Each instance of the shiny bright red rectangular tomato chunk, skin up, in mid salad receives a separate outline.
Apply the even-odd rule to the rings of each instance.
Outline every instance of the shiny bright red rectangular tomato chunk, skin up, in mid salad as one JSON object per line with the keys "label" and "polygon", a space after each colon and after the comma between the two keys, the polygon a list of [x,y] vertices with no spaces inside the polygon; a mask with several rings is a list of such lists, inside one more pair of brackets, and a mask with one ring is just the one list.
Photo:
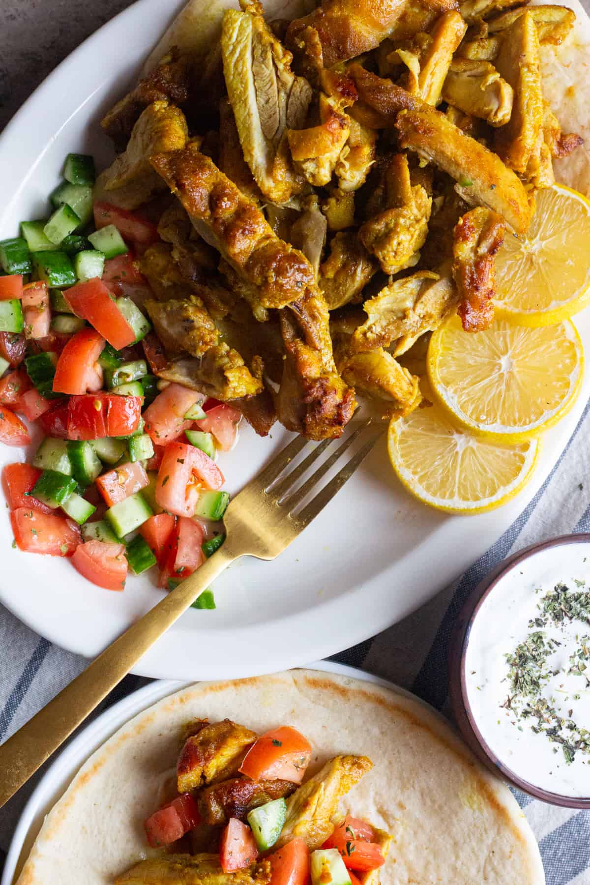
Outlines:
{"label": "shiny bright red rectangular tomato chunk, skin up, in mid salad", "polygon": [[142,417],[141,396],[87,393],[68,402],[67,435],[71,440],[96,440],[102,436],[129,436]]}

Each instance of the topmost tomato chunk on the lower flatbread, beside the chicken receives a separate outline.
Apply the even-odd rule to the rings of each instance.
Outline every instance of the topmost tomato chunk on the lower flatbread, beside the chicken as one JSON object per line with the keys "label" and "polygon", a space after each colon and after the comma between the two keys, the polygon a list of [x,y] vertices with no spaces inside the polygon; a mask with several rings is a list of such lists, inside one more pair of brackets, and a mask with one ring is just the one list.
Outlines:
{"label": "topmost tomato chunk on the lower flatbread, beside the chicken", "polygon": [[311,744],[291,726],[267,731],[250,747],[240,771],[254,781],[301,783],[310,764]]}

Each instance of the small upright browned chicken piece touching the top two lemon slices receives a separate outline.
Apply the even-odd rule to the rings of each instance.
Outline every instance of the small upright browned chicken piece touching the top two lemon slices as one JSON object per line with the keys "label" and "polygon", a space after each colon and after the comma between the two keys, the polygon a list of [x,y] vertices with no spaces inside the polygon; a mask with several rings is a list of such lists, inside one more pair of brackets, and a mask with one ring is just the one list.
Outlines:
{"label": "small upright browned chicken piece touching the top two lemon slices", "polygon": [[504,241],[504,225],[495,212],[478,206],[459,219],[453,236],[453,278],[461,298],[458,313],[465,332],[482,332],[494,320],[494,259]]}

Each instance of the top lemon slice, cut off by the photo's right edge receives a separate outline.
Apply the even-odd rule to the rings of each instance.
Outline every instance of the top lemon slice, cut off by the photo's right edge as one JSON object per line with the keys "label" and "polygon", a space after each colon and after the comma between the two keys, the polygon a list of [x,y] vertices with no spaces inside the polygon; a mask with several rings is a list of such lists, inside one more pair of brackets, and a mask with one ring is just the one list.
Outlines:
{"label": "top lemon slice, cut off by the photo's right edge", "polygon": [[496,316],[521,326],[552,326],[590,302],[590,202],[555,184],[536,195],[525,236],[509,231],[495,261]]}

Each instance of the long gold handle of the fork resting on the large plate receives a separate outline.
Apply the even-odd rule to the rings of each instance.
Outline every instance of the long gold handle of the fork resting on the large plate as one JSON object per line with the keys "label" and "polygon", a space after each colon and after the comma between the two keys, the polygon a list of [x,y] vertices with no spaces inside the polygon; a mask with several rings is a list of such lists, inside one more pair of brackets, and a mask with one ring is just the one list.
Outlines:
{"label": "long gold handle of the fork resting on the large plate", "polygon": [[224,543],[0,746],[0,807],[50,758],[142,655],[236,559]]}

